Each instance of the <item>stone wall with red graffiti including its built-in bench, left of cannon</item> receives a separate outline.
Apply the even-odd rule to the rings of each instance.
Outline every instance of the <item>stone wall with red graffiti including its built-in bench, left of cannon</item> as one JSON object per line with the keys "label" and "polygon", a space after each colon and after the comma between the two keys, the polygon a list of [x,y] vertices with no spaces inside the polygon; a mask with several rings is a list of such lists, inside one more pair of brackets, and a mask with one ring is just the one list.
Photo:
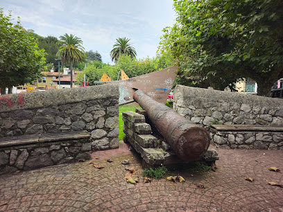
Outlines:
{"label": "stone wall with red graffiti including its built-in bench, left of cannon", "polygon": [[[37,167],[37,159],[48,161],[44,163],[50,165],[78,159],[80,153],[85,154],[85,151],[90,155],[90,150],[118,148],[118,100],[119,89],[116,85],[1,95],[0,172],[7,169],[7,159],[9,166],[20,164],[15,165],[14,169],[28,169]],[[80,132],[84,132],[87,139],[78,141],[75,135]],[[65,134],[63,140],[59,139],[62,134]],[[42,141],[42,138],[51,135],[55,143]],[[13,142],[15,140],[16,143]],[[26,144],[26,140],[33,142]],[[64,157],[58,160],[54,155]],[[72,159],[64,159],[65,156]],[[24,163],[17,163],[18,157]],[[13,160],[16,161],[13,163]],[[34,166],[32,162],[35,162]]]}

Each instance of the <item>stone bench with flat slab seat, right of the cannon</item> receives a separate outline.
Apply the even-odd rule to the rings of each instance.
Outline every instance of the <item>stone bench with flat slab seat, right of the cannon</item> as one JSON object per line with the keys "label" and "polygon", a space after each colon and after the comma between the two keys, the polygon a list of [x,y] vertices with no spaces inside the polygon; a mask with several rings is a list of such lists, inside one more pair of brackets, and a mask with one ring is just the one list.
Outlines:
{"label": "stone bench with flat slab seat, right of the cannon", "polygon": [[219,148],[283,150],[283,126],[210,125],[209,131]]}

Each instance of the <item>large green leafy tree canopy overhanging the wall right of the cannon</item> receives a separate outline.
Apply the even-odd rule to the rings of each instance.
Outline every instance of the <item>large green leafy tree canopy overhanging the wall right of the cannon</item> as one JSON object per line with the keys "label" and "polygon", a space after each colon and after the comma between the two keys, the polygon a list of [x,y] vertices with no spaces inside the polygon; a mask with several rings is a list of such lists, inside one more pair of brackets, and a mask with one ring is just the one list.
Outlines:
{"label": "large green leafy tree canopy overhanging the wall right of the cannon", "polygon": [[174,0],[176,24],[160,48],[180,64],[182,81],[223,89],[256,80],[268,96],[283,77],[283,1]]}

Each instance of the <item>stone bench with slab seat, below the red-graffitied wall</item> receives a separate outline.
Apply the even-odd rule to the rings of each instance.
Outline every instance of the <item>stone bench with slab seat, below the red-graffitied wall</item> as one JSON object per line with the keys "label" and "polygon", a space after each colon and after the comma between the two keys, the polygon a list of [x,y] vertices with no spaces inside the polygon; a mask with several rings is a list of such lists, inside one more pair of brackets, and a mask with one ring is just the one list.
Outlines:
{"label": "stone bench with slab seat, below the red-graffitied wall", "polygon": [[90,159],[87,131],[0,138],[0,174]]}

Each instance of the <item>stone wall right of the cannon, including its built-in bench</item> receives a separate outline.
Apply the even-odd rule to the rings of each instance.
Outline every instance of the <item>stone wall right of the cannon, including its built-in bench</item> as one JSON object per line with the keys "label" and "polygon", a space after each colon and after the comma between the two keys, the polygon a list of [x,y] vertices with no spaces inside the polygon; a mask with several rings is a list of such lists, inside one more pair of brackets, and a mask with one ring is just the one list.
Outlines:
{"label": "stone wall right of the cannon, including its built-in bench", "polygon": [[210,128],[216,124],[283,126],[282,99],[177,85],[173,109],[210,130],[212,143],[223,148],[282,149],[282,132],[242,128],[224,133]]}

